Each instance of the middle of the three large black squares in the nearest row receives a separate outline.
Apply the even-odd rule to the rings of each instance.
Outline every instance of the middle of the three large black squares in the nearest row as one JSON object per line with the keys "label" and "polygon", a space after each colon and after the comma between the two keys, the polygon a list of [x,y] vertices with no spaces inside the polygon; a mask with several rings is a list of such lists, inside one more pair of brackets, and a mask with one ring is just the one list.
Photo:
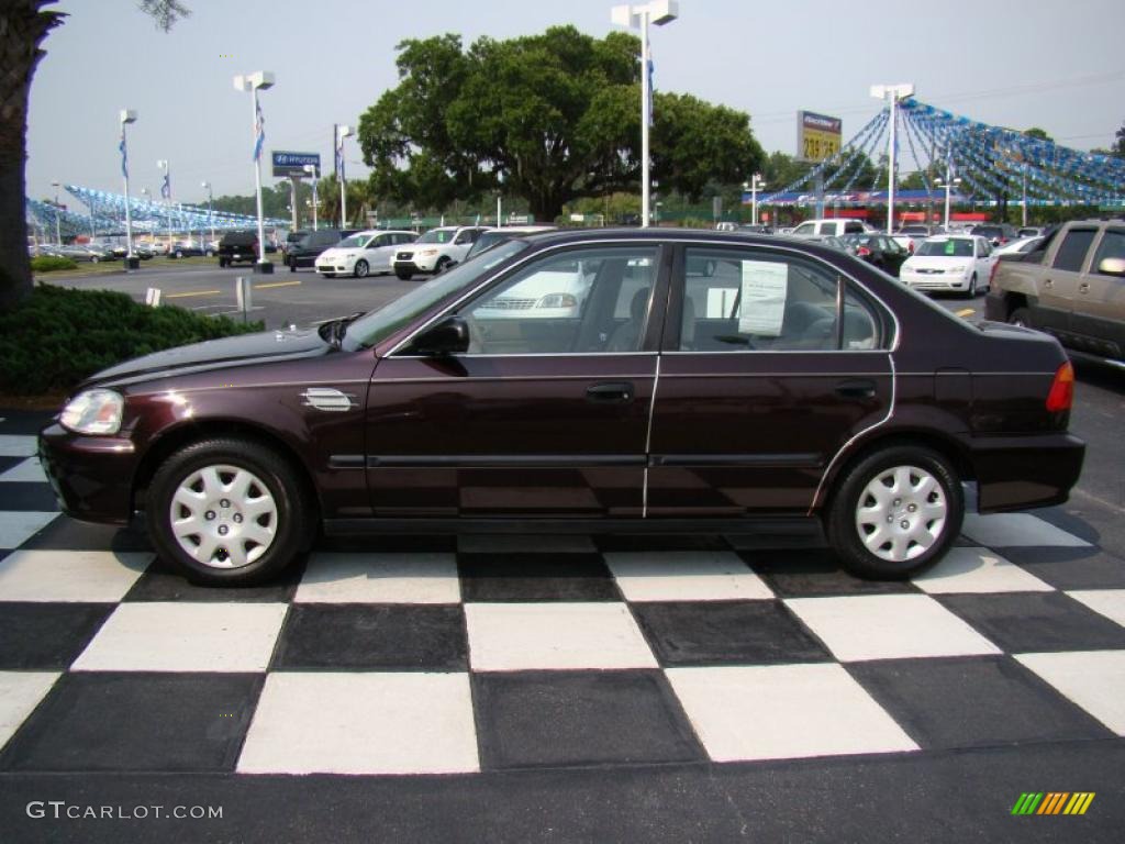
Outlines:
{"label": "middle of the three large black squares in the nearest row", "polygon": [[484,770],[705,758],[657,671],[474,674]]}

